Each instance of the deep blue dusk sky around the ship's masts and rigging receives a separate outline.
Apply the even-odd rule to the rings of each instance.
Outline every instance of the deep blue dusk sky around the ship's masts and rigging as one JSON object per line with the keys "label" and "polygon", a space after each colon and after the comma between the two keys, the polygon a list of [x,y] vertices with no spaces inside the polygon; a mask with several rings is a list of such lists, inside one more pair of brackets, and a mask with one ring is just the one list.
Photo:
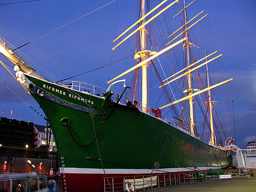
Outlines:
{"label": "deep blue dusk sky around the ship's masts and rigging", "polygon": [[[0,0],[0,36],[18,47],[25,44],[25,41],[32,41],[111,1],[42,0],[7,4],[15,2],[22,2],[22,0]],[[52,81],[114,62],[123,58],[124,55],[111,52],[112,40],[134,4],[135,0],[118,0],[37,39],[32,45],[45,55],[31,45],[26,45],[20,50],[37,65],[51,73],[54,78],[45,77]],[[225,74],[234,78],[230,85],[231,88],[228,89],[232,93],[228,93],[228,96],[234,101],[237,144],[244,148],[247,142],[256,140],[256,1],[198,0],[194,8],[191,8],[191,12],[202,9],[209,14],[206,24],[210,24],[210,38],[212,38],[214,49],[223,54],[221,65],[224,66]],[[136,10],[135,5],[121,31],[135,22]],[[122,51],[126,53],[125,50]],[[134,53],[134,48],[127,55],[131,53]],[[0,59],[8,62],[3,55],[0,55]],[[30,63],[27,59],[25,60]],[[107,88],[106,81],[119,74],[115,72],[117,65],[88,73],[81,78],[87,83]],[[131,59],[129,66],[133,65],[134,62]],[[123,65],[121,70],[124,69],[128,67]],[[38,72],[42,73],[41,70]],[[27,96],[2,66],[0,67],[0,80],[43,114],[33,98]],[[15,119],[19,119],[21,113],[22,120],[27,121],[29,116],[29,121],[35,124],[45,124],[42,117],[21,102],[3,84],[0,84],[0,108],[3,108],[3,116],[7,118],[10,118],[12,109]],[[230,121],[233,122],[232,105],[229,106],[229,111]],[[232,132],[234,132],[233,129],[232,126]]]}

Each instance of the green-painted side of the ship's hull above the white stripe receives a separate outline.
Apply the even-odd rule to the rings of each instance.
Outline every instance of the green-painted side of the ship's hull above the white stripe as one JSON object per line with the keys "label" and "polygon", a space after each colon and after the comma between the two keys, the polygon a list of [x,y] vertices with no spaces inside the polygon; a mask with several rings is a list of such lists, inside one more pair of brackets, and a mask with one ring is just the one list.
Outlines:
{"label": "green-painted side of the ship's hull above the white stripe", "polygon": [[[28,78],[41,89],[44,89],[44,85],[51,85],[67,94],[65,87],[48,84],[32,77]],[[50,91],[54,94],[52,89]],[[75,90],[73,92],[80,94],[80,97],[90,102],[93,101],[94,108],[100,114],[104,114],[105,108],[102,107],[101,97],[91,95],[90,98],[88,94]],[[133,107],[111,103],[108,105],[106,116],[110,115],[112,109],[114,109],[113,113],[109,119],[105,120],[104,128],[97,138],[101,150],[101,161],[93,160],[100,159],[96,144],[86,148],[77,146],[68,133],[68,129],[63,129],[60,119],[68,116],[76,140],[80,143],[90,143],[95,138],[93,121],[95,131],[98,132],[103,119],[102,115],[95,116],[92,121],[88,113],[58,105],[38,94],[32,94],[32,96],[44,110],[53,128],[60,167],[101,169],[101,161],[105,169],[153,169],[156,161],[159,162],[160,168],[174,168],[175,165],[179,167],[194,167],[194,165],[196,167],[224,167],[231,164],[226,151],[210,146],[161,119],[137,113]],[[55,96],[66,99],[70,103],[87,105],[72,96],[56,93]],[[167,138],[168,133],[171,137]]]}

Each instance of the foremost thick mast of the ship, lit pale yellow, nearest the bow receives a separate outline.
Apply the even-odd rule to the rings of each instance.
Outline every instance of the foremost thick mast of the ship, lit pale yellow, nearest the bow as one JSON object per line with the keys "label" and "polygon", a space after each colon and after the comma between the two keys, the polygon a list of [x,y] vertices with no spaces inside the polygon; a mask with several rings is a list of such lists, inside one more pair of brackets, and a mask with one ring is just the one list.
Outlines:
{"label": "foremost thick mast of the ship, lit pale yellow, nearest the bow", "polygon": [[[145,15],[145,0],[141,1],[141,16],[142,18]],[[145,23],[145,19],[141,21],[141,25]],[[146,29],[145,27],[141,28],[140,31],[141,37],[141,50],[146,50]],[[141,53],[141,62],[147,58],[147,53]],[[147,63],[142,65],[142,111],[147,111]]]}

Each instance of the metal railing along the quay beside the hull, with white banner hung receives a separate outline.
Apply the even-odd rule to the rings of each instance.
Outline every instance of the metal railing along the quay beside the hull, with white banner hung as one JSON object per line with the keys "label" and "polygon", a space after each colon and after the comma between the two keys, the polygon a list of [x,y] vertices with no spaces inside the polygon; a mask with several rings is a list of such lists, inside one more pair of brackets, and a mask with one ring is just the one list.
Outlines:
{"label": "metal railing along the quay beside the hull, with white banner hung", "polygon": [[160,187],[208,183],[212,181],[256,179],[256,169],[226,169],[190,171],[182,173],[164,173],[140,176],[104,177],[104,192],[153,190]]}

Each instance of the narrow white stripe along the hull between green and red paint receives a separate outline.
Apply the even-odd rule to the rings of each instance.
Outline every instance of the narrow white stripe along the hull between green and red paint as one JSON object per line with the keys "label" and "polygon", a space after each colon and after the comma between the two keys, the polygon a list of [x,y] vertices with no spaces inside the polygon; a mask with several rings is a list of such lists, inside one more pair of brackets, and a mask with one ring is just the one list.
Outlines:
{"label": "narrow white stripe along the hull between green and red paint", "polygon": [[[214,167],[199,167],[194,169],[193,167],[188,168],[164,168],[157,169],[153,171],[153,174],[160,173],[173,173],[173,172],[189,172],[193,170],[208,170],[208,169],[221,169],[221,166]],[[105,169],[106,174],[150,174],[153,169]],[[103,169],[93,169],[93,168],[70,168],[70,167],[60,167],[62,174],[104,174]]]}

